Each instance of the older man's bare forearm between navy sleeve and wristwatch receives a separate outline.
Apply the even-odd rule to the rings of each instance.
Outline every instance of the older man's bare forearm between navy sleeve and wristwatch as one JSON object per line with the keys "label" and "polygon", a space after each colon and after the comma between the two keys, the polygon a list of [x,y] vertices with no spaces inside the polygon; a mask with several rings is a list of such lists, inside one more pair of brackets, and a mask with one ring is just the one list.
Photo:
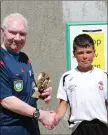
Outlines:
{"label": "older man's bare forearm between navy sleeve and wristwatch", "polygon": [[36,110],[36,108],[28,105],[15,96],[10,96],[2,99],[1,105],[12,112],[28,117],[33,117],[33,113]]}

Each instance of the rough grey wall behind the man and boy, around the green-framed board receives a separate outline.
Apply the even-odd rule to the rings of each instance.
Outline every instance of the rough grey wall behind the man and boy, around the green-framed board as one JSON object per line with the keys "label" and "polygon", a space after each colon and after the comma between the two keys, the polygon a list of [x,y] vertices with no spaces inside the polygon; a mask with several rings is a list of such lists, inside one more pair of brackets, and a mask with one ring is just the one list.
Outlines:
{"label": "rough grey wall behind the man and boy, around the green-framed board", "polygon": [[[107,21],[106,1],[2,1],[1,21],[13,12],[23,14],[29,23],[29,32],[24,51],[32,61],[35,77],[41,71],[51,77],[52,100],[46,105],[38,101],[38,107],[55,110],[57,88],[66,69],[65,24],[68,21]],[[53,130],[45,129],[41,123],[41,134],[70,134],[68,128],[69,109]]]}

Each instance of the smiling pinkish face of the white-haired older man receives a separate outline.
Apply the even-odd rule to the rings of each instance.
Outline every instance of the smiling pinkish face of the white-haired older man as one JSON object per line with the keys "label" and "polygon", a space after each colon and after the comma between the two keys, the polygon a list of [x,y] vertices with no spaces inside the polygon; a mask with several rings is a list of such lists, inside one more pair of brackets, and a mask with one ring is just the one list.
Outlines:
{"label": "smiling pinkish face of the white-haired older man", "polygon": [[14,53],[19,53],[26,42],[26,26],[24,20],[18,16],[11,17],[8,20],[8,26],[2,32],[5,47]]}

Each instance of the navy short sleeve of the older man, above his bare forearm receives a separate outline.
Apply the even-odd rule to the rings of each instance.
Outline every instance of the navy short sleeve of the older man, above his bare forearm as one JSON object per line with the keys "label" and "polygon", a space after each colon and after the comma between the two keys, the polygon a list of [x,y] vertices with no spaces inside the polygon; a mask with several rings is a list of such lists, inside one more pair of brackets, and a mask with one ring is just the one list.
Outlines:
{"label": "navy short sleeve of the older man, above his bare forearm", "polygon": [[11,80],[8,76],[8,69],[0,59],[0,98],[12,96]]}

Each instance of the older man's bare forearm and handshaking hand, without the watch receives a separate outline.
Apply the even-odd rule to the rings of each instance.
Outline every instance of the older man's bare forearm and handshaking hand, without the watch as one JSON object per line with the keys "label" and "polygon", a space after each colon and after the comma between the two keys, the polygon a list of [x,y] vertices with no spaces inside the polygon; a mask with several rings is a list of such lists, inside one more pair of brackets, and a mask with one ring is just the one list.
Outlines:
{"label": "older man's bare forearm and handshaking hand, without the watch", "polygon": [[[10,97],[1,99],[0,104],[4,108],[6,108],[12,112],[15,112],[20,115],[28,116],[31,118],[33,118],[33,114],[36,110],[36,108],[28,105],[27,103],[23,102],[22,100],[18,99],[15,96],[10,96]],[[44,110],[39,109],[39,112],[40,112],[40,116],[37,120],[39,120],[40,122],[48,123],[50,121],[50,119],[52,120],[52,118],[49,118],[50,111],[44,111]]]}

